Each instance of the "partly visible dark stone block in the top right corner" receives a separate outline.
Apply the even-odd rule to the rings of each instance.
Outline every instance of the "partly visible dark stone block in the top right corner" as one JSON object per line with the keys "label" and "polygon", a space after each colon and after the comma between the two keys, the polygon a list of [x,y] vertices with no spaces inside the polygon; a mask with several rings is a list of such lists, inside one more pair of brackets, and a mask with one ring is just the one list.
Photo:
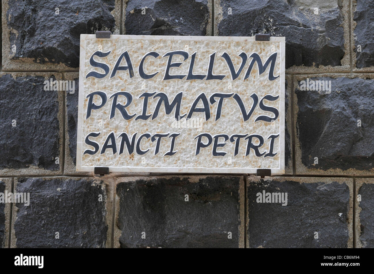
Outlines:
{"label": "partly visible dark stone block in the top right corner", "polygon": [[[353,20],[357,25],[355,34],[356,67],[364,68],[374,66],[374,0],[357,0],[356,11],[353,13]],[[361,45],[361,52],[358,52],[358,45]]]}

